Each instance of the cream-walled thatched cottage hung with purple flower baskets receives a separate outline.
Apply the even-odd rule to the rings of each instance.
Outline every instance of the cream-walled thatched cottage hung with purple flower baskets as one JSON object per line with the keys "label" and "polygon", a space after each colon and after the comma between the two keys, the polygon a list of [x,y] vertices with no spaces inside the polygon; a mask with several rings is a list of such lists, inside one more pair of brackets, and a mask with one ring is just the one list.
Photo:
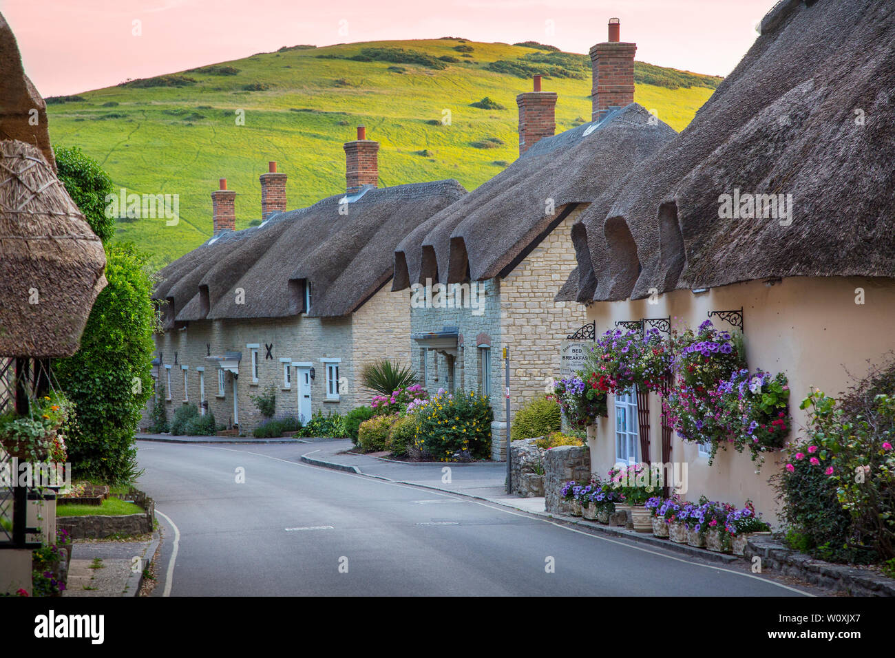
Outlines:
{"label": "cream-walled thatched cottage hung with purple flower baskets", "polygon": [[[572,227],[578,268],[559,303],[585,304],[598,334],[644,318],[695,328],[728,312],[712,320],[744,329],[751,368],[786,373],[804,424],[809,387],[835,396],[847,370],[863,374],[895,347],[893,88],[891,4],[777,4],[686,130]],[[733,451],[708,466],[702,447],[663,428],[655,394],[637,398],[610,400],[593,428],[595,472],[686,462],[688,497],[751,498],[771,512],[777,453],[760,473]]]}

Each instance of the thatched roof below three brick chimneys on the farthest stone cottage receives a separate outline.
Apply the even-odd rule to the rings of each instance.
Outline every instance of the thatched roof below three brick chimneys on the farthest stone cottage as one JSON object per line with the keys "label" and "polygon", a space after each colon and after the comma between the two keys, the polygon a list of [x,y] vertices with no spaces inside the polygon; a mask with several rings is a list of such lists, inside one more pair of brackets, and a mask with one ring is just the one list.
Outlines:
{"label": "thatched roof below three brick chimneys on the farthest stone cottage", "polygon": [[464,194],[453,180],[396,185],[279,213],[172,262],[153,297],[173,300],[178,321],[280,318],[303,312],[310,282],[308,315],[348,315],[391,278],[398,240]]}

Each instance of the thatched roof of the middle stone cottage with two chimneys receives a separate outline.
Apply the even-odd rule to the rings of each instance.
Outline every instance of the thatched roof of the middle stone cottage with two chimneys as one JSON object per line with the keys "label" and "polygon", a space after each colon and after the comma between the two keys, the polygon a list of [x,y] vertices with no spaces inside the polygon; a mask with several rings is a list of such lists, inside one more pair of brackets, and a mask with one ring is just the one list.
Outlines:
{"label": "thatched roof of the middle stone cottage with two chimneys", "polygon": [[398,245],[393,289],[426,278],[464,281],[467,268],[473,280],[505,274],[556,226],[563,207],[592,201],[676,134],[632,104],[536,142]]}

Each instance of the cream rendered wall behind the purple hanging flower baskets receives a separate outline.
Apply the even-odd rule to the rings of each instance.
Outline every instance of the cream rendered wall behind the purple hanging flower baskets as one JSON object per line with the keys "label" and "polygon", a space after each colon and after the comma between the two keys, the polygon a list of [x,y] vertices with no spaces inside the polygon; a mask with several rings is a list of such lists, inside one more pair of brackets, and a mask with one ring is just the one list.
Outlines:
{"label": "cream rendered wall behind the purple hanging flower baskets", "polygon": [[[856,303],[862,288],[865,303]],[[895,281],[871,278],[786,278],[774,286],[752,281],[712,288],[694,295],[677,290],[660,295],[657,303],[647,300],[593,303],[588,320],[595,320],[597,335],[615,326],[616,320],[639,320],[670,316],[678,327],[698,327],[709,311],[744,307],[746,358],[750,370],[762,368],[785,372],[790,387],[790,411],[795,427],[805,424],[798,409],[810,387],[836,396],[848,387],[846,370],[862,376],[867,360],[878,362],[895,348]],[[716,327],[729,325],[713,318]],[[686,323],[686,324],[685,324]],[[651,456],[661,460],[660,398],[651,395]],[[592,471],[604,476],[615,462],[615,410],[609,401],[609,418],[601,419],[589,432]],[[793,434],[790,434],[790,439]],[[769,520],[777,518],[774,491],[767,482],[782,467],[779,455],[765,457],[763,467],[748,453],[719,450],[712,466],[695,444],[672,438],[672,461],[688,465],[686,498],[706,495],[712,500],[742,504],[754,501]],[[756,470],[759,470],[756,473]]]}

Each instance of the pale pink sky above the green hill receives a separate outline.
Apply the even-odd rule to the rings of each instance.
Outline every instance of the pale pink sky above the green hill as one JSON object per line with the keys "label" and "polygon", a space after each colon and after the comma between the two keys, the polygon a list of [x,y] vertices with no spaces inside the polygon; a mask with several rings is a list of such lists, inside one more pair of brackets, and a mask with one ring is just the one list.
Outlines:
{"label": "pale pink sky above the green hill", "polygon": [[[44,96],[295,44],[464,37],[586,53],[609,17],[639,61],[726,75],[774,0],[0,0]],[[140,20],[142,35],[132,35]],[[345,22],[346,21],[346,22]],[[343,31],[340,33],[340,27]]]}

